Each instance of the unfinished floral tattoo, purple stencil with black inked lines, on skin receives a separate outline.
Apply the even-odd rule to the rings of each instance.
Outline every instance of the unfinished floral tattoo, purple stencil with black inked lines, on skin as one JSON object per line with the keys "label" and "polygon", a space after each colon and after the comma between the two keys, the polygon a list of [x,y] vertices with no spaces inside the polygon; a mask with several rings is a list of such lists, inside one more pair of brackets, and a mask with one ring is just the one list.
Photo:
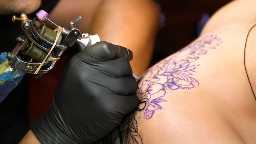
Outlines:
{"label": "unfinished floral tattoo, purple stencil with black inked lines, on skin", "polygon": [[139,84],[137,90],[140,105],[121,129],[124,144],[143,144],[135,117],[143,112],[143,118],[149,120],[156,110],[163,109],[161,103],[167,102],[164,99],[167,89],[190,90],[199,86],[199,81],[193,77],[196,67],[200,66],[195,61],[221,43],[222,40],[217,35],[209,35],[165,58],[147,71],[143,78],[145,80]]}

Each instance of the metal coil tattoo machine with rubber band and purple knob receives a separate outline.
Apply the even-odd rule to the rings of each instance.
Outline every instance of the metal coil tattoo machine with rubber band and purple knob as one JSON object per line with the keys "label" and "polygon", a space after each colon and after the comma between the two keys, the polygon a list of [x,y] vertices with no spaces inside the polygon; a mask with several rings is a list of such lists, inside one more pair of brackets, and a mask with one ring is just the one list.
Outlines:
{"label": "metal coil tattoo machine with rubber band and purple knob", "polygon": [[[21,21],[21,28],[25,33],[24,36],[17,37],[18,44],[12,52],[6,54],[9,64],[16,70],[31,74],[44,74],[54,67],[67,47],[77,43],[81,51],[100,42],[98,35],[81,35],[77,27],[81,16],[75,21],[71,21],[69,28],[53,23],[47,18],[49,15],[44,10],[37,12],[36,16],[37,19],[33,20],[28,19],[26,14],[21,14],[20,18],[12,17],[14,22]],[[44,21],[53,23],[57,28],[52,30],[46,26]],[[31,60],[23,60],[18,52],[29,56]]]}

